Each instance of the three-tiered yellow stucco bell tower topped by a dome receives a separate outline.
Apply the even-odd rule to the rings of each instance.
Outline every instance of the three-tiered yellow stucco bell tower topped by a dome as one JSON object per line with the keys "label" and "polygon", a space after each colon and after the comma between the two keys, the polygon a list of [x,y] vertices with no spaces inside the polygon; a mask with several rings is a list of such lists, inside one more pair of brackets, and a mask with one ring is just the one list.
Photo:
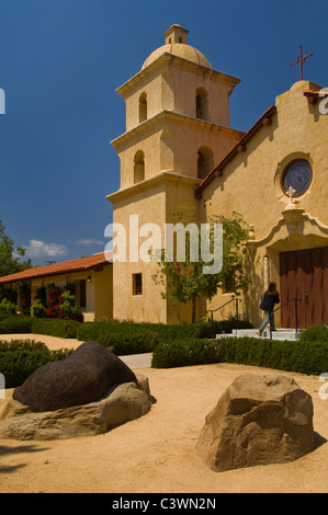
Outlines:
{"label": "three-tiered yellow stucco bell tower topped by a dome", "polygon": [[[244,135],[229,125],[229,96],[239,79],[214,70],[188,44],[188,34],[172,25],[165,45],[117,89],[126,105],[126,131],[111,142],[120,157],[121,186],[108,199],[127,240],[131,215],[139,227],[156,224],[163,234],[179,206],[197,210],[194,187]],[[154,262],[132,262],[128,252],[125,263],[114,262],[115,319],[189,321],[188,307],[172,308],[161,298],[151,279],[156,268]]]}

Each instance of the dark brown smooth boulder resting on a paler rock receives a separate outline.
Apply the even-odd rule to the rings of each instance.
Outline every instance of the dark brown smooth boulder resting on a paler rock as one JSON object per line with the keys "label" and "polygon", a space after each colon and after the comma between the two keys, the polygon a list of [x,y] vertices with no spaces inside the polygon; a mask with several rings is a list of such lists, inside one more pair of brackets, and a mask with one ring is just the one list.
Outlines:
{"label": "dark brown smooth boulder resting on a paler rock", "polygon": [[86,342],[66,359],[37,368],[13,399],[33,412],[55,411],[99,401],[123,382],[137,382],[131,368],[99,343]]}

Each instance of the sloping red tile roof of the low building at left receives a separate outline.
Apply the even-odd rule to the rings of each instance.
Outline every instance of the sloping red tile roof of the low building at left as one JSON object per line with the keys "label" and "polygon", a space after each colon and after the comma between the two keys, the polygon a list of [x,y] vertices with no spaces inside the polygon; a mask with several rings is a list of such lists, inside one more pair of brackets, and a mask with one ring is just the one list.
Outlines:
{"label": "sloping red tile roof of the low building at left", "polygon": [[105,265],[112,262],[111,252],[101,252],[100,254],[80,258],[78,260],[66,261],[64,263],[55,263],[48,266],[39,266],[37,268],[29,268],[16,274],[0,277],[0,284],[15,283],[19,281],[35,279],[38,277],[47,277],[52,275],[70,274],[72,272],[83,272]]}

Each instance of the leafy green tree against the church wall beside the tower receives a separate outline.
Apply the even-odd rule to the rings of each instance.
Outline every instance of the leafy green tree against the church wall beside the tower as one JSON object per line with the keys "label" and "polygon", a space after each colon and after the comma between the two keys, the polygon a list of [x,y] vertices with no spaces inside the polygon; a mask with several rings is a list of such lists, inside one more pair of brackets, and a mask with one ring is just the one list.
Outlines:
{"label": "leafy green tree against the church wall beside the tower", "polygon": [[[162,298],[167,298],[173,304],[177,300],[183,304],[191,300],[191,321],[195,322],[197,298],[206,297],[212,299],[217,289],[231,278],[237,295],[240,294],[240,290],[247,289],[248,279],[245,274],[242,245],[248,239],[249,229],[241,215],[235,211],[230,218],[218,216],[211,219],[207,232],[210,250],[207,256],[214,255],[215,244],[217,243],[215,240],[217,238],[215,225],[222,225],[222,268],[216,273],[204,273],[208,260],[204,261],[202,226],[195,221],[194,211],[181,206],[172,215],[178,220],[177,225],[182,224],[184,228],[196,227],[197,231],[194,231],[193,234],[191,231],[184,231],[185,253],[182,261],[178,259],[177,244],[171,260],[167,259],[167,250],[161,250],[160,259],[157,258],[158,271],[152,275],[152,279],[156,284],[165,286],[165,291],[161,293]],[[191,224],[192,226],[190,226]],[[195,234],[197,234],[196,245]],[[197,261],[195,260],[195,249],[197,250]]]}

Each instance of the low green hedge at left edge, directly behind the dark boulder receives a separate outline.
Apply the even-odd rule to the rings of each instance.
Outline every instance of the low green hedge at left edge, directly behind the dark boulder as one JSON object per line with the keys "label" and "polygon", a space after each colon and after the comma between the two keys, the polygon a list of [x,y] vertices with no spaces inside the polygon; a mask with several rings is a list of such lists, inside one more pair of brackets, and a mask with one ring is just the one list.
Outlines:
{"label": "low green hedge at left edge, directly behind the dark boulder", "polygon": [[49,351],[44,343],[15,340],[0,341],[0,373],[5,379],[5,388],[16,388],[36,368],[49,362],[65,359],[71,351]]}

